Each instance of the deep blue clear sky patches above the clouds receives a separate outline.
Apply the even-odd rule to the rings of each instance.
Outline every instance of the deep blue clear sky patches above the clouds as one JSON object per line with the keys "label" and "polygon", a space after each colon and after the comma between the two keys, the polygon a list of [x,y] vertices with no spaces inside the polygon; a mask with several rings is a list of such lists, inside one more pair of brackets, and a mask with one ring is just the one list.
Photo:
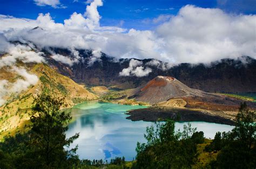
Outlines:
{"label": "deep blue clear sky patches above the clouds", "polygon": [[[1,0],[0,14],[11,15],[18,18],[36,19],[38,13],[50,13],[58,23],[70,17],[73,12],[84,13],[85,0],[60,0],[66,8],[52,8],[52,6],[38,6],[33,0]],[[203,8],[220,8],[230,13],[256,13],[256,1],[254,0],[104,0],[104,5],[98,8],[100,25],[120,26],[127,29],[153,29],[155,24],[145,22],[147,19],[156,18],[159,15],[176,15],[182,6],[187,4]]]}

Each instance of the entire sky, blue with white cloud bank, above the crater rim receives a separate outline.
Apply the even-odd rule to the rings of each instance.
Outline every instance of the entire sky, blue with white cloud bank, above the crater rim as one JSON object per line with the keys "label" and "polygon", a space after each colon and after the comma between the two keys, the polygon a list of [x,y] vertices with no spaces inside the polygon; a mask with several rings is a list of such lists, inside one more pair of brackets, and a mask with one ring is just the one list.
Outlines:
{"label": "entire sky, blue with white cloud bank, above the crater rim", "polygon": [[[77,49],[119,58],[211,63],[256,58],[255,0],[9,0],[0,5],[0,51],[10,41]],[[33,30],[39,26],[40,29]],[[139,65],[139,64],[137,64]],[[133,66],[131,66],[133,67]],[[134,68],[134,67],[133,67]],[[136,67],[135,67],[136,68]],[[132,70],[132,69],[131,69]]]}

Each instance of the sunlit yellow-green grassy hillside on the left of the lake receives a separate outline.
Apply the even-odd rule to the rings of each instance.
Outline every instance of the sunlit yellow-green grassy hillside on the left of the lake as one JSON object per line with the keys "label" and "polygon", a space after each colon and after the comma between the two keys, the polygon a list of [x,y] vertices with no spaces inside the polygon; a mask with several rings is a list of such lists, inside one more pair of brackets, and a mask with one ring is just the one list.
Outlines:
{"label": "sunlit yellow-green grassy hillside on the left of the lake", "polygon": [[[30,85],[27,90],[23,90],[21,93],[9,93],[4,97],[6,103],[0,107],[1,136],[9,132],[21,131],[20,129],[29,123],[29,112],[33,100],[42,92],[48,92],[54,97],[63,97],[66,107],[98,98],[95,94],[87,91],[83,85],[60,75],[46,64],[22,64],[19,66],[36,75],[39,80],[35,85]],[[17,79],[21,78],[14,71],[9,72],[8,70],[8,66],[1,68],[0,80],[17,82]]]}

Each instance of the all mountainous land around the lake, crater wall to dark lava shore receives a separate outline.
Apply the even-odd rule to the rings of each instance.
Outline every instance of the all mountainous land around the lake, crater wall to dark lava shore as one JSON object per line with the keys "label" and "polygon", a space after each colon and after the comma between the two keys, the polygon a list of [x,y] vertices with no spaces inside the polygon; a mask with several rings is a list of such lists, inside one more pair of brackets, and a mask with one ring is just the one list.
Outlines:
{"label": "all mountainous land around the lake, crater wall to dark lava shore", "polygon": [[[22,43],[15,42],[14,44],[21,45]],[[186,70],[186,73],[198,70],[199,67],[197,66],[191,67],[187,65],[190,67],[190,70],[187,70],[188,67],[185,68],[184,64],[174,65],[163,71],[159,66],[166,67],[168,64],[160,62],[159,60],[157,60],[158,64],[150,64],[152,60],[134,61],[134,59],[121,59],[116,62],[112,57],[105,55],[105,53],[102,53],[100,59],[96,60],[92,65],[88,65],[92,57],[92,51],[90,50],[78,50],[80,60],[78,63],[70,66],[62,62],[56,62],[46,49],[40,50],[31,48],[31,50],[43,52],[43,60],[46,60],[46,62],[28,64],[21,60],[16,63],[16,67],[22,67],[22,69],[28,71],[31,75],[36,75],[38,82],[35,85],[30,85],[28,89],[23,90],[21,93],[8,93],[3,96],[6,103],[0,107],[0,123],[3,126],[0,130],[2,138],[6,134],[24,132],[23,127],[29,124],[30,107],[33,104],[33,98],[43,92],[51,93],[56,98],[64,97],[65,107],[63,108],[72,107],[76,104],[96,99],[124,105],[147,105],[150,107],[145,110],[133,110],[128,113],[131,115],[128,119],[145,121],[165,120],[169,118],[178,120],[177,117],[179,117],[181,121],[199,120],[233,125],[241,102],[246,102],[252,110],[255,110],[256,107],[251,97],[215,93],[234,92],[234,90],[235,93],[255,92],[254,85],[256,83],[253,83],[252,79],[254,79],[253,76],[256,75],[256,73],[254,74],[252,72],[256,72],[253,66],[256,64],[256,61],[250,57],[245,57],[248,60],[246,67],[243,67],[243,64],[239,62],[239,60],[223,60],[221,63],[213,64],[209,67],[200,65],[200,69],[203,69],[203,67],[204,69],[215,69],[215,66],[223,67],[219,68],[219,70],[231,69],[225,68],[227,62],[229,62],[229,66],[232,66],[232,64],[240,64],[240,66],[236,66],[234,69],[239,69],[240,73],[241,70],[251,72],[246,73],[244,77],[245,80],[243,80],[242,84],[248,86],[246,84],[246,79],[248,79],[252,88],[242,87],[241,89],[243,90],[240,90],[238,86],[235,87],[234,85],[233,87],[235,87],[235,89],[231,90],[232,88],[224,83],[225,80],[222,75],[221,78],[218,78],[221,80],[221,86],[224,88],[219,90],[213,87],[211,90],[208,90],[208,88],[205,88],[205,86],[208,87],[208,85],[205,84],[207,77],[204,78],[203,84],[194,85],[187,83],[188,81],[184,81],[182,76],[174,73],[181,69],[180,66],[183,66],[182,70]],[[68,49],[53,48],[52,50],[58,55],[63,55],[67,58],[72,58],[73,55]],[[5,55],[2,56],[2,58],[5,57]],[[154,73],[140,78],[137,76],[118,75],[118,72],[125,69],[129,62],[139,62],[144,66],[149,66],[150,69],[154,70]],[[196,87],[196,89],[192,89],[178,79],[170,76],[156,76],[147,81],[147,79],[156,75],[156,73],[161,73],[160,75],[166,75],[166,73],[169,75],[177,75],[184,83],[190,84],[190,86]],[[198,78],[198,75],[194,76]],[[217,76],[211,75],[211,78],[214,77]],[[0,79],[8,80],[9,83],[13,83],[19,78],[24,77],[12,71],[10,66],[1,68]],[[193,79],[193,76],[186,79]],[[200,83],[201,81],[195,78],[193,82]],[[211,82],[215,82],[215,80],[211,79]],[[232,82],[232,78],[229,82]],[[236,81],[235,84],[239,84],[238,82],[240,81]],[[215,87],[216,86],[217,85],[215,85]],[[211,92],[214,91],[214,93],[207,93],[199,89]]]}

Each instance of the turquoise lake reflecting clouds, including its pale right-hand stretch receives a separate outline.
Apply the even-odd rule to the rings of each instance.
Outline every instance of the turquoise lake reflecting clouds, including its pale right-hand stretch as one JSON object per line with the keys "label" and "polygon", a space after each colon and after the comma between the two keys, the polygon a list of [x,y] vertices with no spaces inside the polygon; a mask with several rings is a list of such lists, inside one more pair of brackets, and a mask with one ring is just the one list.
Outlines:
{"label": "turquoise lake reflecting clouds, including its pale right-hand stretch", "polygon": [[[79,138],[71,145],[78,145],[80,159],[104,159],[125,157],[133,160],[136,157],[136,144],[145,142],[144,133],[151,122],[127,120],[125,112],[141,109],[145,106],[129,106],[103,102],[86,102],[71,109],[73,122],[69,125],[67,137],[80,133]],[[184,123],[176,123],[176,130],[183,129]],[[192,127],[203,131],[206,138],[214,138],[217,131],[230,131],[233,126],[191,122]]]}

